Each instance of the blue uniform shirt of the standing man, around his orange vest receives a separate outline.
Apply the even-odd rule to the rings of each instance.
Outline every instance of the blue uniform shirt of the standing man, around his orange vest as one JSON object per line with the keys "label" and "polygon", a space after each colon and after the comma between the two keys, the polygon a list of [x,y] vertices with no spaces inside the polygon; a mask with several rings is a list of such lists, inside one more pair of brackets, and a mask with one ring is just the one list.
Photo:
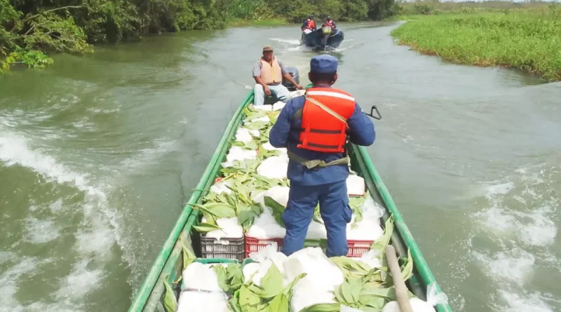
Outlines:
{"label": "blue uniform shirt of the standing man, around his orange vest", "polygon": [[[316,87],[330,88],[330,86]],[[357,145],[371,145],[376,139],[374,123],[372,123],[370,118],[364,114],[363,110],[360,109],[360,106],[358,106],[358,103],[355,105],[355,111],[349,120],[347,120],[347,123],[349,124],[349,140]],[[292,115],[294,115],[298,109],[302,109],[303,107],[303,96],[294,97],[286,103],[283,110],[280,111],[278,119],[269,133],[269,141],[271,142],[271,145],[277,148],[289,147],[290,151],[294,154],[308,160],[320,159],[328,163],[330,161],[343,158],[344,154],[342,153],[323,153],[320,151],[310,151],[296,147],[300,133],[291,129],[302,128],[302,119],[292,120]],[[349,167],[346,165],[332,165],[325,168],[314,168],[309,170],[295,161],[289,161],[288,163],[288,179],[290,179],[291,184],[306,186],[320,185],[339,182],[345,180],[348,176]]]}

